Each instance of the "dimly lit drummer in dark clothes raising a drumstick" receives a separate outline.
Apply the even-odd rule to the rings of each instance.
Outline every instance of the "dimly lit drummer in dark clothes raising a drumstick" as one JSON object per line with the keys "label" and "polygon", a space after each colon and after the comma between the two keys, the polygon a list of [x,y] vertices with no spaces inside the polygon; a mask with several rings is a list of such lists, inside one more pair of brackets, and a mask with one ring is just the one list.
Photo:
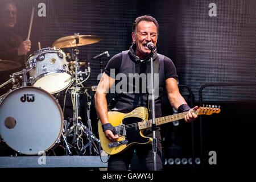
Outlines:
{"label": "dimly lit drummer in dark clothes raising a drumstick", "polygon": [[[31,49],[30,40],[23,41],[14,33],[17,10],[14,1],[0,1],[0,60],[17,61],[25,67],[26,54]],[[19,68],[20,71],[22,68]],[[14,70],[15,72],[17,70]],[[0,84],[9,80],[10,72],[1,73]],[[3,91],[3,90],[2,90]],[[1,92],[1,90],[0,90]],[[1,94],[1,93],[0,93]]]}

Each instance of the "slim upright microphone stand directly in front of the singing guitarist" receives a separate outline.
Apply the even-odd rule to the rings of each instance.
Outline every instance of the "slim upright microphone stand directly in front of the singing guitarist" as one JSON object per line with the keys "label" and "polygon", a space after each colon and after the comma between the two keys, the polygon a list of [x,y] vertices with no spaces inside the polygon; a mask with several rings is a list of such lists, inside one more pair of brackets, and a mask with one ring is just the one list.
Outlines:
{"label": "slim upright microphone stand directly in front of the singing guitarist", "polygon": [[[153,143],[152,143],[152,147],[153,147],[153,161],[154,161],[154,171],[156,171],[156,148],[157,148],[157,144],[156,144],[156,135],[155,135],[155,130],[156,130],[156,124],[155,124],[155,89],[154,89],[154,69],[153,69],[153,53],[151,51],[151,57],[150,57],[150,67],[151,67],[151,104],[152,104],[152,109],[151,109],[151,113],[152,113],[152,132],[153,132]],[[150,98],[148,97],[148,102],[149,102]]]}

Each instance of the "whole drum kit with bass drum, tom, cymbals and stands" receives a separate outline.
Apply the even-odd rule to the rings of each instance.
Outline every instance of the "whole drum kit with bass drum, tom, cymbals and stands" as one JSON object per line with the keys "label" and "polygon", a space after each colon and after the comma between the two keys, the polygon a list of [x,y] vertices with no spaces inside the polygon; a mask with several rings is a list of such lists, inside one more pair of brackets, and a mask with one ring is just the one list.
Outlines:
{"label": "whole drum kit with bass drum, tom, cymbals and stands", "polygon": [[[13,73],[10,80],[0,85],[13,89],[0,96],[0,136],[16,154],[38,155],[63,143],[66,155],[98,154],[100,140],[92,132],[90,123],[90,96],[84,87],[90,76],[90,67],[84,72],[79,61],[79,46],[100,42],[101,38],[92,35],[65,36],[56,40],[52,47],[40,48],[26,61],[26,69]],[[61,48],[71,48],[71,56]],[[87,63],[88,64],[88,63]],[[14,61],[0,60],[0,73],[20,68]],[[82,75],[86,78],[83,80]],[[17,81],[19,80],[19,81]],[[90,88],[96,89],[96,86]],[[63,109],[53,94],[71,91],[73,118],[64,120]],[[80,95],[86,94],[87,122],[80,116]],[[65,105],[65,104],[64,104]],[[1,139],[0,138],[0,139]],[[83,139],[86,139],[84,142]]]}

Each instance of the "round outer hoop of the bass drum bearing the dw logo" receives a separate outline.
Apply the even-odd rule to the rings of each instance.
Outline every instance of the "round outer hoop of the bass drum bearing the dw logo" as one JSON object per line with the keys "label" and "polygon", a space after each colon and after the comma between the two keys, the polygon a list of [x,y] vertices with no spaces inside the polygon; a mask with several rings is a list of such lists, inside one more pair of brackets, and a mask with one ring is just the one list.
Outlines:
{"label": "round outer hoop of the bass drum bearing the dw logo", "polygon": [[[32,89],[37,89],[37,90],[40,90],[44,93],[46,93],[48,96],[50,96],[50,98],[55,102],[55,104],[57,105],[58,109],[59,109],[59,112],[60,112],[60,119],[61,119],[61,123],[60,123],[60,131],[59,131],[59,134],[58,134],[58,137],[56,138],[56,140],[51,144],[51,146],[49,146],[44,152],[50,150],[53,146],[55,146],[55,144],[57,143],[57,140],[60,139],[61,137],[61,134],[63,133],[63,128],[64,128],[64,115],[63,115],[63,111],[60,107],[60,104],[57,102],[56,98],[54,98],[50,93],[48,93],[46,90],[44,89],[41,89],[41,88],[38,88],[38,87],[35,87],[35,86],[20,86],[19,88],[16,88],[14,90],[11,90],[9,93],[7,93],[4,97],[3,97],[3,100],[0,104],[0,108],[1,108],[1,105],[3,105],[3,102],[5,101],[5,98],[8,97],[10,94],[12,94],[13,92],[15,92],[16,90],[20,90],[20,89],[24,89],[24,88],[32,88]],[[1,135],[1,133],[0,133]],[[2,138],[2,135],[1,135],[1,138]],[[5,139],[2,138],[3,142],[5,142]],[[5,142],[6,143],[6,142]],[[6,143],[7,146],[9,146],[8,143]],[[16,151],[14,148],[12,148],[11,146],[9,146],[11,149],[13,149],[14,151]],[[16,151],[16,152],[19,152],[20,154],[24,154],[20,151]],[[33,154],[24,154],[24,155],[38,155],[38,153],[33,153]]]}

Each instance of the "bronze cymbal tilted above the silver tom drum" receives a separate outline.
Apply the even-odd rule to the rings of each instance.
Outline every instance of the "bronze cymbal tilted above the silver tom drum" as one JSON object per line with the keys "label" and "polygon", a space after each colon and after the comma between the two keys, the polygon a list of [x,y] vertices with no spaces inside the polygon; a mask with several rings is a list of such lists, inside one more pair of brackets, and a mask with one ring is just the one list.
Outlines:
{"label": "bronze cymbal tilted above the silver tom drum", "polygon": [[57,39],[52,46],[57,48],[76,47],[76,38],[79,39],[77,46],[85,46],[100,42],[102,38],[93,35],[71,35]]}

